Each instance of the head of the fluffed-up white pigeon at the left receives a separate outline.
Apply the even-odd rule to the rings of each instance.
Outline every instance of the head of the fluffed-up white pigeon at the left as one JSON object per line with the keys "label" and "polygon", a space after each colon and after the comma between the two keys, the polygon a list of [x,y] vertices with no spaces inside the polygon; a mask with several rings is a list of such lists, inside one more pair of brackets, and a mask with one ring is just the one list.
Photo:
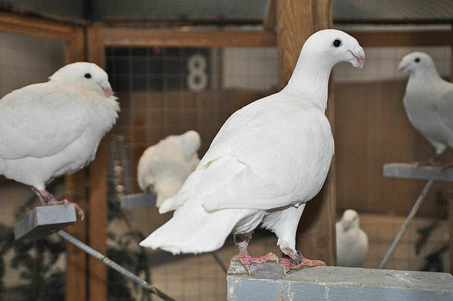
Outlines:
{"label": "head of the fluffed-up white pigeon at the left", "polygon": [[113,96],[107,73],[97,64],[76,62],[67,64],[49,77],[51,81],[81,81],[105,97]]}

